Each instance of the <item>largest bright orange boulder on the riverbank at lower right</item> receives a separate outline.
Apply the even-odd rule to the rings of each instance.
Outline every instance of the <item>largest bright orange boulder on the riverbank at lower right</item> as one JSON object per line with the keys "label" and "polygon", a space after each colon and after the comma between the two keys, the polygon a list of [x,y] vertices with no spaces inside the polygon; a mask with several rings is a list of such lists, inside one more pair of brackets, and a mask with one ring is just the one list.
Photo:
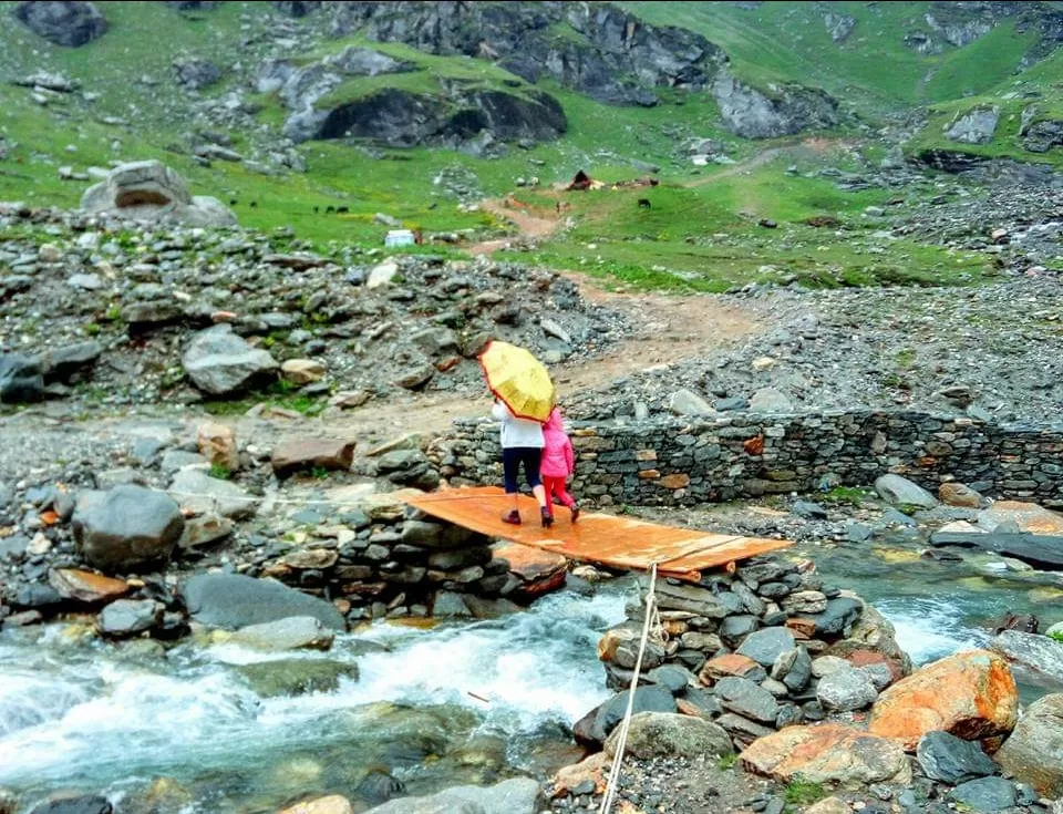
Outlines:
{"label": "largest bright orange boulder on the riverbank at lower right", "polygon": [[1019,692],[1008,662],[988,650],[968,650],[886,690],[871,709],[869,731],[915,751],[919,739],[935,730],[969,741],[1007,734],[1018,715]]}

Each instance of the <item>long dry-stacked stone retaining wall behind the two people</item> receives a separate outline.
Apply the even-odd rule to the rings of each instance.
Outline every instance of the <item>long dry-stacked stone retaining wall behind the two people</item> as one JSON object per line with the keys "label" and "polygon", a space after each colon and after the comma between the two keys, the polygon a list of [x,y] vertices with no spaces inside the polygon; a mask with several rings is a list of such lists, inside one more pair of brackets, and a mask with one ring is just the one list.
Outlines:
{"label": "long dry-stacked stone retaining wall behind the two people", "polygon": [[[599,505],[693,505],[902,474],[1063,507],[1063,425],[858,410],[571,426],[574,492]],[[497,424],[460,421],[430,457],[452,484],[500,483]]]}

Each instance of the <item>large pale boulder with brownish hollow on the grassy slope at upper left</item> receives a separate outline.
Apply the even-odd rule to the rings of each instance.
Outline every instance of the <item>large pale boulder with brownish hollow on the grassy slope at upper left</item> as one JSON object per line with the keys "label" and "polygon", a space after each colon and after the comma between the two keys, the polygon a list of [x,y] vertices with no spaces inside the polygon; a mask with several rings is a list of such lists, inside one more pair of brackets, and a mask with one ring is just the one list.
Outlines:
{"label": "large pale boulder with brownish hollow on the grassy slope at upper left", "polygon": [[89,213],[134,220],[163,220],[188,226],[236,226],[236,215],[216,198],[188,192],[184,179],[159,161],[122,164],[81,198]]}

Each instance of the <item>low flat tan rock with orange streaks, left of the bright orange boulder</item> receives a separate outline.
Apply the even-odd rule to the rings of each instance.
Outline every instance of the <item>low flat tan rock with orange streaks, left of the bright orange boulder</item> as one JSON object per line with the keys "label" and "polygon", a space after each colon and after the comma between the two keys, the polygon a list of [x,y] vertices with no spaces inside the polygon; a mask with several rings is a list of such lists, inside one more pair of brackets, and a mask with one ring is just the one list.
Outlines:
{"label": "low flat tan rock with orange streaks, left of the bright orange boulder", "polygon": [[905,750],[896,741],[839,724],[787,727],[753,741],[739,755],[751,772],[788,782],[899,783],[911,781]]}

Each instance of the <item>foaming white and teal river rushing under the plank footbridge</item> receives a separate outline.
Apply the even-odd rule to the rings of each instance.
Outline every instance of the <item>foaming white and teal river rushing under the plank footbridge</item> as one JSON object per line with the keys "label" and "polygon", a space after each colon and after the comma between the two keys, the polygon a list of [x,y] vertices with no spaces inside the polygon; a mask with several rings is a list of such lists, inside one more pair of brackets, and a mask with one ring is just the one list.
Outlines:
{"label": "foaming white and teal river rushing under the plank footbridge", "polygon": [[[898,595],[896,583],[863,576],[837,583],[855,581],[917,662],[983,642],[980,620],[1008,605],[926,584]],[[566,727],[608,695],[596,643],[634,596],[622,579],[498,620],[378,625],[295,662],[209,641],[163,657],[138,642],[85,642],[62,625],[8,631],[0,786],[29,803],[56,790],[106,791],[131,814],[251,814],[330,792],[362,810],[396,781],[425,793],[541,776],[578,756]],[[289,673],[323,669],[331,683],[277,694],[260,670],[255,678],[267,659],[283,659]]]}

